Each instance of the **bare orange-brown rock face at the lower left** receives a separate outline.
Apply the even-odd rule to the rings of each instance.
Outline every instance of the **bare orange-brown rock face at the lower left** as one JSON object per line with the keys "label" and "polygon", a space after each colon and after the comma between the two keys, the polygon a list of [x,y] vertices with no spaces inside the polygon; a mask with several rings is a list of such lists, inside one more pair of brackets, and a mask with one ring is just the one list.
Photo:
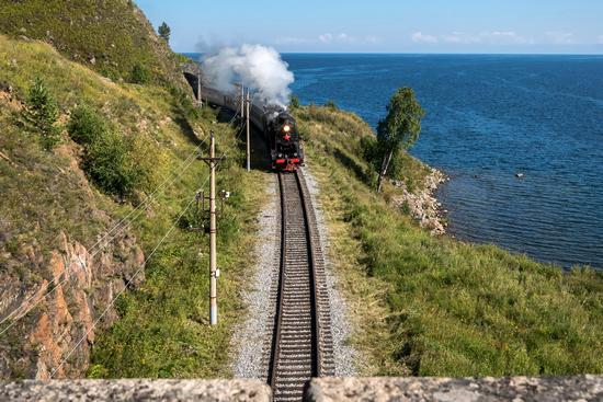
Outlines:
{"label": "bare orange-brown rock face at the lower left", "polygon": [[21,250],[47,278],[26,284],[0,273],[0,319],[9,318],[0,328],[9,329],[0,338],[2,378],[82,377],[95,332],[117,318],[115,296],[144,280],[144,254],[128,233],[90,251],[64,232],[57,240],[48,256],[35,245]]}

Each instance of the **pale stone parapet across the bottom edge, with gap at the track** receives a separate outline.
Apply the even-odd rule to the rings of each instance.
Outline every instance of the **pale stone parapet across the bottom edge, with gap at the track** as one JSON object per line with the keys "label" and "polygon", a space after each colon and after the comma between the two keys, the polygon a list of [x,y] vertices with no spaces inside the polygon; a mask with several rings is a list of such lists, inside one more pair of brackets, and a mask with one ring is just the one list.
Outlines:
{"label": "pale stone parapet across the bottom edge, with gap at the track", "polygon": [[[260,380],[54,380],[0,382],[0,401],[261,401]],[[603,401],[603,376],[510,378],[322,378],[306,401]]]}

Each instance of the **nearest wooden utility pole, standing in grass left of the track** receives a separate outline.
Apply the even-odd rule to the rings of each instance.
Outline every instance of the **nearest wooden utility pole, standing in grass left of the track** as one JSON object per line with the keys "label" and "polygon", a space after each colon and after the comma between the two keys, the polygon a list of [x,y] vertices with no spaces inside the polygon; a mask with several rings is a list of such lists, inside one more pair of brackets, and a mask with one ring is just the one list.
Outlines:
{"label": "nearest wooden utility pole, standing in grass left of the track", "polygon": [[216,139],[214,131],[209,133],[209,158],[202,158],[209,164],[209,323],[218,323],[218,300],[217,300],[217,251],[216,251],[216,165],[219,160],[216,158]]}

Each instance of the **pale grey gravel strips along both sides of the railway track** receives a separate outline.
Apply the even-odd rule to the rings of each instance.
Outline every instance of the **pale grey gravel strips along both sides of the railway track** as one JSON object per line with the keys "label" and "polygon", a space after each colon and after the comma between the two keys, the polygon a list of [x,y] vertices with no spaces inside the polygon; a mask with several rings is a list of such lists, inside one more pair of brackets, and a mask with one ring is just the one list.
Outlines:
{"label": "pale grey gravel strips along both sides of the railway track", "polygon": [[[348,306],[337,289],[337,277],[328,257],[328,231],[325,217],[320,210],[319,187],[307,169],[304,176],[311,196],[318,226],[320,246],[325,256],[327,288],[329,291],[329,307],[331,315],[331,332],[333,335],[333,355],[335,376],[355,376],[356,351],[345,342],[352,333],[348,320]],[[270,322],[274,318],[275,294],[274,284],[278,275],[280,261],[280,230],[281,215],[278,200],[277,175],[269,181],[266,188],[266,204],[258,218],[258,242],[254,249],[255,264],[249,272],[249,289],[243,294],[247,306],[247,318],[235,329],[231,341],[232,374],[236,378],[268,377],[268,361],[270,346],[269,334],[272,333]]]}

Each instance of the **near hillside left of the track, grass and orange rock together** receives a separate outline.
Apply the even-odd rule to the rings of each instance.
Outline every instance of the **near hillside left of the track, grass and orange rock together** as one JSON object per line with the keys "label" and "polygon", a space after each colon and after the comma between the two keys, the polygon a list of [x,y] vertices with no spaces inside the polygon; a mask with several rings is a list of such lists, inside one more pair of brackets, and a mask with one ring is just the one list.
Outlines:
{"label": "near hillside left of the track, grass and orange rock together", "polygon": [[[218,116],[194,110],[185,93],[114,83],[45,43],[0,35],[0,377],[48,378],[55,370],[54,378],[203,377],[224,370],[220,351],[240,308],[238,272],[251,246],[250,216],[261,205],[253,184],[263,180],[254,173],[243,182],[238,128],[214,123]],[[52,150],[27,120],[36,79],[59,108],[60,141]],[[75,136],[81,107],[92,115],[100,153]],[[204,324],[208,277],[200,267],[207,241],[186,230],[201,225],[194,196],[207,168],[194,157],[207,150],[209,128],[229,156],[219,186],[232,192],[219,236],[220,291],[228,300],[219,329]],[[106,163],[115,162],[102,153],[104,145],[125,148],[115,166],[137,172],[124,194],[103,180],[114,172]],[[158,342],[161,348],[152,346]],[[178,352],[182,344],[186,354]]]}

